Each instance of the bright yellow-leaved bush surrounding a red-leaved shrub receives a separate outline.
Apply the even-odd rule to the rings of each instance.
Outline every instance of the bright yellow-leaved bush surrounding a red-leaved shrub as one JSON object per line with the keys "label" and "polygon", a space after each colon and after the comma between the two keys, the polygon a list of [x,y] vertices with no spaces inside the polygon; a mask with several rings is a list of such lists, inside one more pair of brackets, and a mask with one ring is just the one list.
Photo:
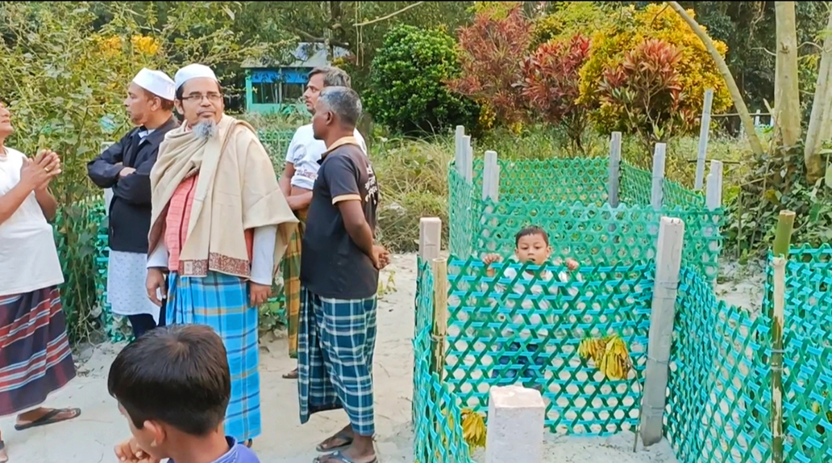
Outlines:
{"label": "bright yellow-leaved bush surrounding a red-leaved shrub", "polygon": [[[693,16],[694,12],[688,10],[688,14]],[[628,53],[634,51],[646,39],[651,38],[671,44],[679,54],[678,59],[674,60],[672,65],[678,76],[677,85],[680,89],[676,106],[679,111],[683,111],[686,115],[700,115],[703,97],[708,88],[714,90],[714,100],[711,106],[713,113],[723,112],[731,106],[730,94],[725,80],[716,68],[716,63],[699,37],[696,37],[696,34],[676,12],[656,4],[648,5],[641,11],[626,7],[622,8],[617,21],[610,22],[605,29],[592,36],[590,58],[581,70],[580,101],[594,108],[591,119],[599,131],[605,134],[610,133],[612,127],[619,124],[617,120],[619,115],[626,111],[635,111],[631,104],[636,102],[626,100],[622,96],[617,96],[611,101],[609,88],[607,91],[603,89],[605,75],[620,69]],[[716,40],[714,43],[721,55],[725,56],[726,44]],[[642,48],[643,51],[646,49]],[[621,107],[610,107],[613,101]],[[661,113],[652,108],[649,112]],[[665,124],[663,121],[656,121],[656,126],[661,127]],[[693,127],[686,128],[690,130]],[[683,131],[674,131],[672,134],[664,132],[659,136],[666,139],[668,135],[676,136],[684,133]]]}

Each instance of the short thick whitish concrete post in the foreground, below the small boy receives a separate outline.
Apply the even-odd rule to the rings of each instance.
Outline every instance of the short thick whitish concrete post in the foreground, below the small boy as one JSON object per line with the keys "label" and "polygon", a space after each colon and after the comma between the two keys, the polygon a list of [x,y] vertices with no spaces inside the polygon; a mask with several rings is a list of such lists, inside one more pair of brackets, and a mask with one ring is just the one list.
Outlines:
{"label": "short thick whitish concrete post in the foreground, below the small boy", "polygon": [[485,463],[541,463],[546,404],[536,389],[494,386],[488,390]]}

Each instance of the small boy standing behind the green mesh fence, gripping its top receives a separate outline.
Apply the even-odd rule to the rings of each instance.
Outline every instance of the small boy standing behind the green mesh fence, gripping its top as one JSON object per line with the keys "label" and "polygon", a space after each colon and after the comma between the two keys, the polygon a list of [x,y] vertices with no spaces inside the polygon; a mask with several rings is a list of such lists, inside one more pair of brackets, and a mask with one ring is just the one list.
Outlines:
{"label": "small boy standing behind the green mesh fence, gripping its top", "polygon": [[[521,229],[514,236],[514,258],[518,264],[545,265],[552,256],[552,246],[549,245],[549,236],[546,231],[537,226],[530,226]],[[487,275],[493,277],[494,268],[491,264],[500,262],[503,258],[499,254],[488,254],[483,258],[483,264],[488,266]],[[556,263],[559,264],[559,263]],[[567,259],[566,265],[569,270],[578,268],[575,259]],[[551,304],[544,299],[550,294],[550,286],[555,278],[551,270],[542,268],[539,270],[527,269],[518,278],[518,269],[505,268],[501,279],[510,279],[515,283],[512,292],[520,296],[520,307],[524,313],[513,313],[510,323],[506,323],[502,336],[511,341],[498,342],[498,352],[503,352],[499,357],[499,365],[491,373],[492,378],[499,378],[498,385],[507,385],[516,381],[518,372],[523,378],[523,386],[532,387],[542,392],[546,384],[543,376],[543,369],[546,365],[546,340],[549,335],[544,323]],[[566,272],[558,273],[558,279],[563,283],[569,281]],[[505,295],[506,284],[495,283],[493,296],[499,298],[499,304],[506,308],[516,308],[517,298],[508,298]],[[531,297],[523,295],[531,294]],[[505,316],[498,314],[498,321],[505,322]],[[516,357],[516,358],[515,358]],[[501,370],[507,370],[500,374]]]}

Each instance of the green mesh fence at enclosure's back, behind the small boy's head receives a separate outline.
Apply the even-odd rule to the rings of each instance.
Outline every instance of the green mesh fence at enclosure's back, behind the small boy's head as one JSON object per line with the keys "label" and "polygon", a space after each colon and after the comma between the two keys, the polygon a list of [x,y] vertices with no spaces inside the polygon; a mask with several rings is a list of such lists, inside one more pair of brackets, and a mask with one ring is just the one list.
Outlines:
{"label": "green mesh fence at enclosure's back, behind the small boy's head", "polygon": [[631,265],[656,253],[661,216],[685,221],[683,263],[716,280],[722,248],[723,209],[706,208],[702,195],[670,180],[663,183],[663,207],[650,205],[651,173],[622,163],[620,200],[607,202],[607,160],[553,159],[498,161],[499,200],[483,200],[483,160],[473,162],[473,182],[452,162],[448,170],[450,249],[454,254],[510,255],[523,226],[547,230],[553,259],[583,264]]}

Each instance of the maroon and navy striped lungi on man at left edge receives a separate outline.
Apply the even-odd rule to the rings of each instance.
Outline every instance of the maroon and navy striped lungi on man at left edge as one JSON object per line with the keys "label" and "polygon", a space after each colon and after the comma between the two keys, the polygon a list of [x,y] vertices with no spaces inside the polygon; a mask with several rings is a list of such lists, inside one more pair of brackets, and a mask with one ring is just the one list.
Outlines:
{"label": "maroon and navy striped lungi on man at left edge", "polygon": [[42,404],[74,377],[57,287],[0,296],[0,416]]}

